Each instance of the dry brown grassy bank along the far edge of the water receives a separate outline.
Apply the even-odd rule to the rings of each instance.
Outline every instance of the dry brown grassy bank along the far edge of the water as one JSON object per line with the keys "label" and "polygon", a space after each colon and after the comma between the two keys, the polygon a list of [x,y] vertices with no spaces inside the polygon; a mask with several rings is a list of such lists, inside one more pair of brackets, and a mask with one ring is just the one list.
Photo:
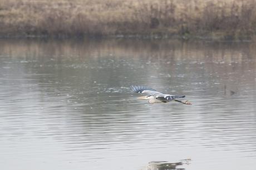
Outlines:
{"label": "dry brown grassy bank along the far edge of the water", "polygon": [[250,39],[254,0],[0,0],[0,37]]}

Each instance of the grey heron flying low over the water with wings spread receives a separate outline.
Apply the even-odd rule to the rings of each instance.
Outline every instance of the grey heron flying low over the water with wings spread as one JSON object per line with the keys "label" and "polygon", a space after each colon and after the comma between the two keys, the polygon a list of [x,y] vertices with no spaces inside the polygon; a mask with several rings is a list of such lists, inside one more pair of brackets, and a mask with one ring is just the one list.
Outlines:
{"label": "grey heron flying low over the water with wings spread", "polygon": [[174,96],[171,94],[164,94],[161,92],[157,92],[155,89],[146,87],[146,86],[131,86],[130,87],[132,91],[136,93],[142,93],[146,94],[146,96],[141,96],[139,99],[147,100],[150,104],[154,103],[168,103],[171,101],[180,102],[183,104],[189,104],[191,103],[189,101],[180,101],[180,98],[184,98],[185,96]]}

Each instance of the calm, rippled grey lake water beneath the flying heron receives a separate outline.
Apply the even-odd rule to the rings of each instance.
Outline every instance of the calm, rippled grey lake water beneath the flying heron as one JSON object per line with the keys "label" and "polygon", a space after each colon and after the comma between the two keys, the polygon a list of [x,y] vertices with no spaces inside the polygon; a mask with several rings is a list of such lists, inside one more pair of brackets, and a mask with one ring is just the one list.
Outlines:
{"label": "calm, rippled grey lake water beneath the flying heron", "polygon": [[255,103],[253,42],[0,40],[1,169],[256,169]]}

